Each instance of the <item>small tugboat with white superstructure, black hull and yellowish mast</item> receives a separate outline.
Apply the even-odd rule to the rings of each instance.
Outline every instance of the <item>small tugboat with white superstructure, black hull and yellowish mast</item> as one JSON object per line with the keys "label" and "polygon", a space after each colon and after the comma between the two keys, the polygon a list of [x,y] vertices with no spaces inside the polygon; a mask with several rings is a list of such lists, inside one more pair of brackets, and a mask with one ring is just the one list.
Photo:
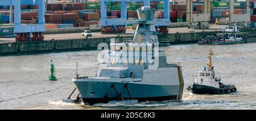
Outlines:
{"label": "small tugboat with white superstructure, black hull and yellowish mast", "polygon": [[209,63],[207,66],[203,66],[203,69],[199,71],[198,76],[195,78],[195,82],[187,87],[192,93],[195,94],[224,94],[230,92],[237,92],[235,85],[223,84],[221,79],[216,77],[212,66],[213,51],[210,48],[209,51]]}

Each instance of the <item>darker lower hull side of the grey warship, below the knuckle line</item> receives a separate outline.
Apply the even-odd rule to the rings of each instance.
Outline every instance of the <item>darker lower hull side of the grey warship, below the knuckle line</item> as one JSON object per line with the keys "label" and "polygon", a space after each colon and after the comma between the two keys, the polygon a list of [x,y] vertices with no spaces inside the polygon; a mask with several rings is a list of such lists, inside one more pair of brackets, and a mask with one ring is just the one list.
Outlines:
{"label": "darker lower hull side of the grey warship, below the knuckle line", "polygon": [[[109,101],[121,100],[115,92],[112,85],[121,94],[124,100],[130,100],[129,90],[131,97],[134,100],[142,101],[166,101],[176,100],[177,90],[179,85],[147,85],[147,84],[127,84],[126,83],[94,83],[94,82],[80,82],[76,86],[82,94],[82,101],[93,105],[94,103],[108,103]],[[152,91],[154,90],[154,91]],[[93,96],[91,92],[95,92]]]}

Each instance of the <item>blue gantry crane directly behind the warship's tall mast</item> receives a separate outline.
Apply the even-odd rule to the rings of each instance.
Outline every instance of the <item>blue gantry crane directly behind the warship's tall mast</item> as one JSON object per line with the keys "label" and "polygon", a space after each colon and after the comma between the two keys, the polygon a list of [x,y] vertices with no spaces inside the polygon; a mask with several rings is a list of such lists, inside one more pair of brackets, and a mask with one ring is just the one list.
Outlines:
{"label": "blue gantry crane directly behind the warship's tall mast", "polygon": [[[156,23],[159,32],[168,33],[167,26],[170,25],[170,2],[169,0],[102,0],[101,1],[101,33],[125,33],[127,26],[127,2],[143,2],[144,6],[150,6],[150,1],[164,2],[164,18],[154,19],[164,21]],[[107,19],[107,2],[121,2],[121,18]]]}

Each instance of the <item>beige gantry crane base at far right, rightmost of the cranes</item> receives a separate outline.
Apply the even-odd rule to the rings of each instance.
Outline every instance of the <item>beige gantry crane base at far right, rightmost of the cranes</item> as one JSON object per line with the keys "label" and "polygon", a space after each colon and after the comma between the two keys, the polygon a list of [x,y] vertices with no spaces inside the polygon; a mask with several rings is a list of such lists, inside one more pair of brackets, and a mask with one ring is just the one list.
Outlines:
{"label": "beige gantry crane base at far right, rightmost of the cranes", "polygon": [[250,28],[250,0],[246,0],[246,13],[234,14],[234,0],[229,0],[229,27],[239,29]]}

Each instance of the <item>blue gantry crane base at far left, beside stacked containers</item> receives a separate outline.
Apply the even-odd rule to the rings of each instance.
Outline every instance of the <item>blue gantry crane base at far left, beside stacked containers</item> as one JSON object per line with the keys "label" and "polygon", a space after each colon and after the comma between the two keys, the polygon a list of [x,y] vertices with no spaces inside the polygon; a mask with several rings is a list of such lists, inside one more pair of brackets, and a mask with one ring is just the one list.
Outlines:
{"label": "blue gantry crane base at far left, beside stacked containers", "polygon": [[[38,23],[21,24],[20,5],[38,5]],[[44,14],[46,5],[44,0],[4,0],[0,6],[14,6],[14,33],[16,41],[44,40],[43,32],[46,31]]]}

